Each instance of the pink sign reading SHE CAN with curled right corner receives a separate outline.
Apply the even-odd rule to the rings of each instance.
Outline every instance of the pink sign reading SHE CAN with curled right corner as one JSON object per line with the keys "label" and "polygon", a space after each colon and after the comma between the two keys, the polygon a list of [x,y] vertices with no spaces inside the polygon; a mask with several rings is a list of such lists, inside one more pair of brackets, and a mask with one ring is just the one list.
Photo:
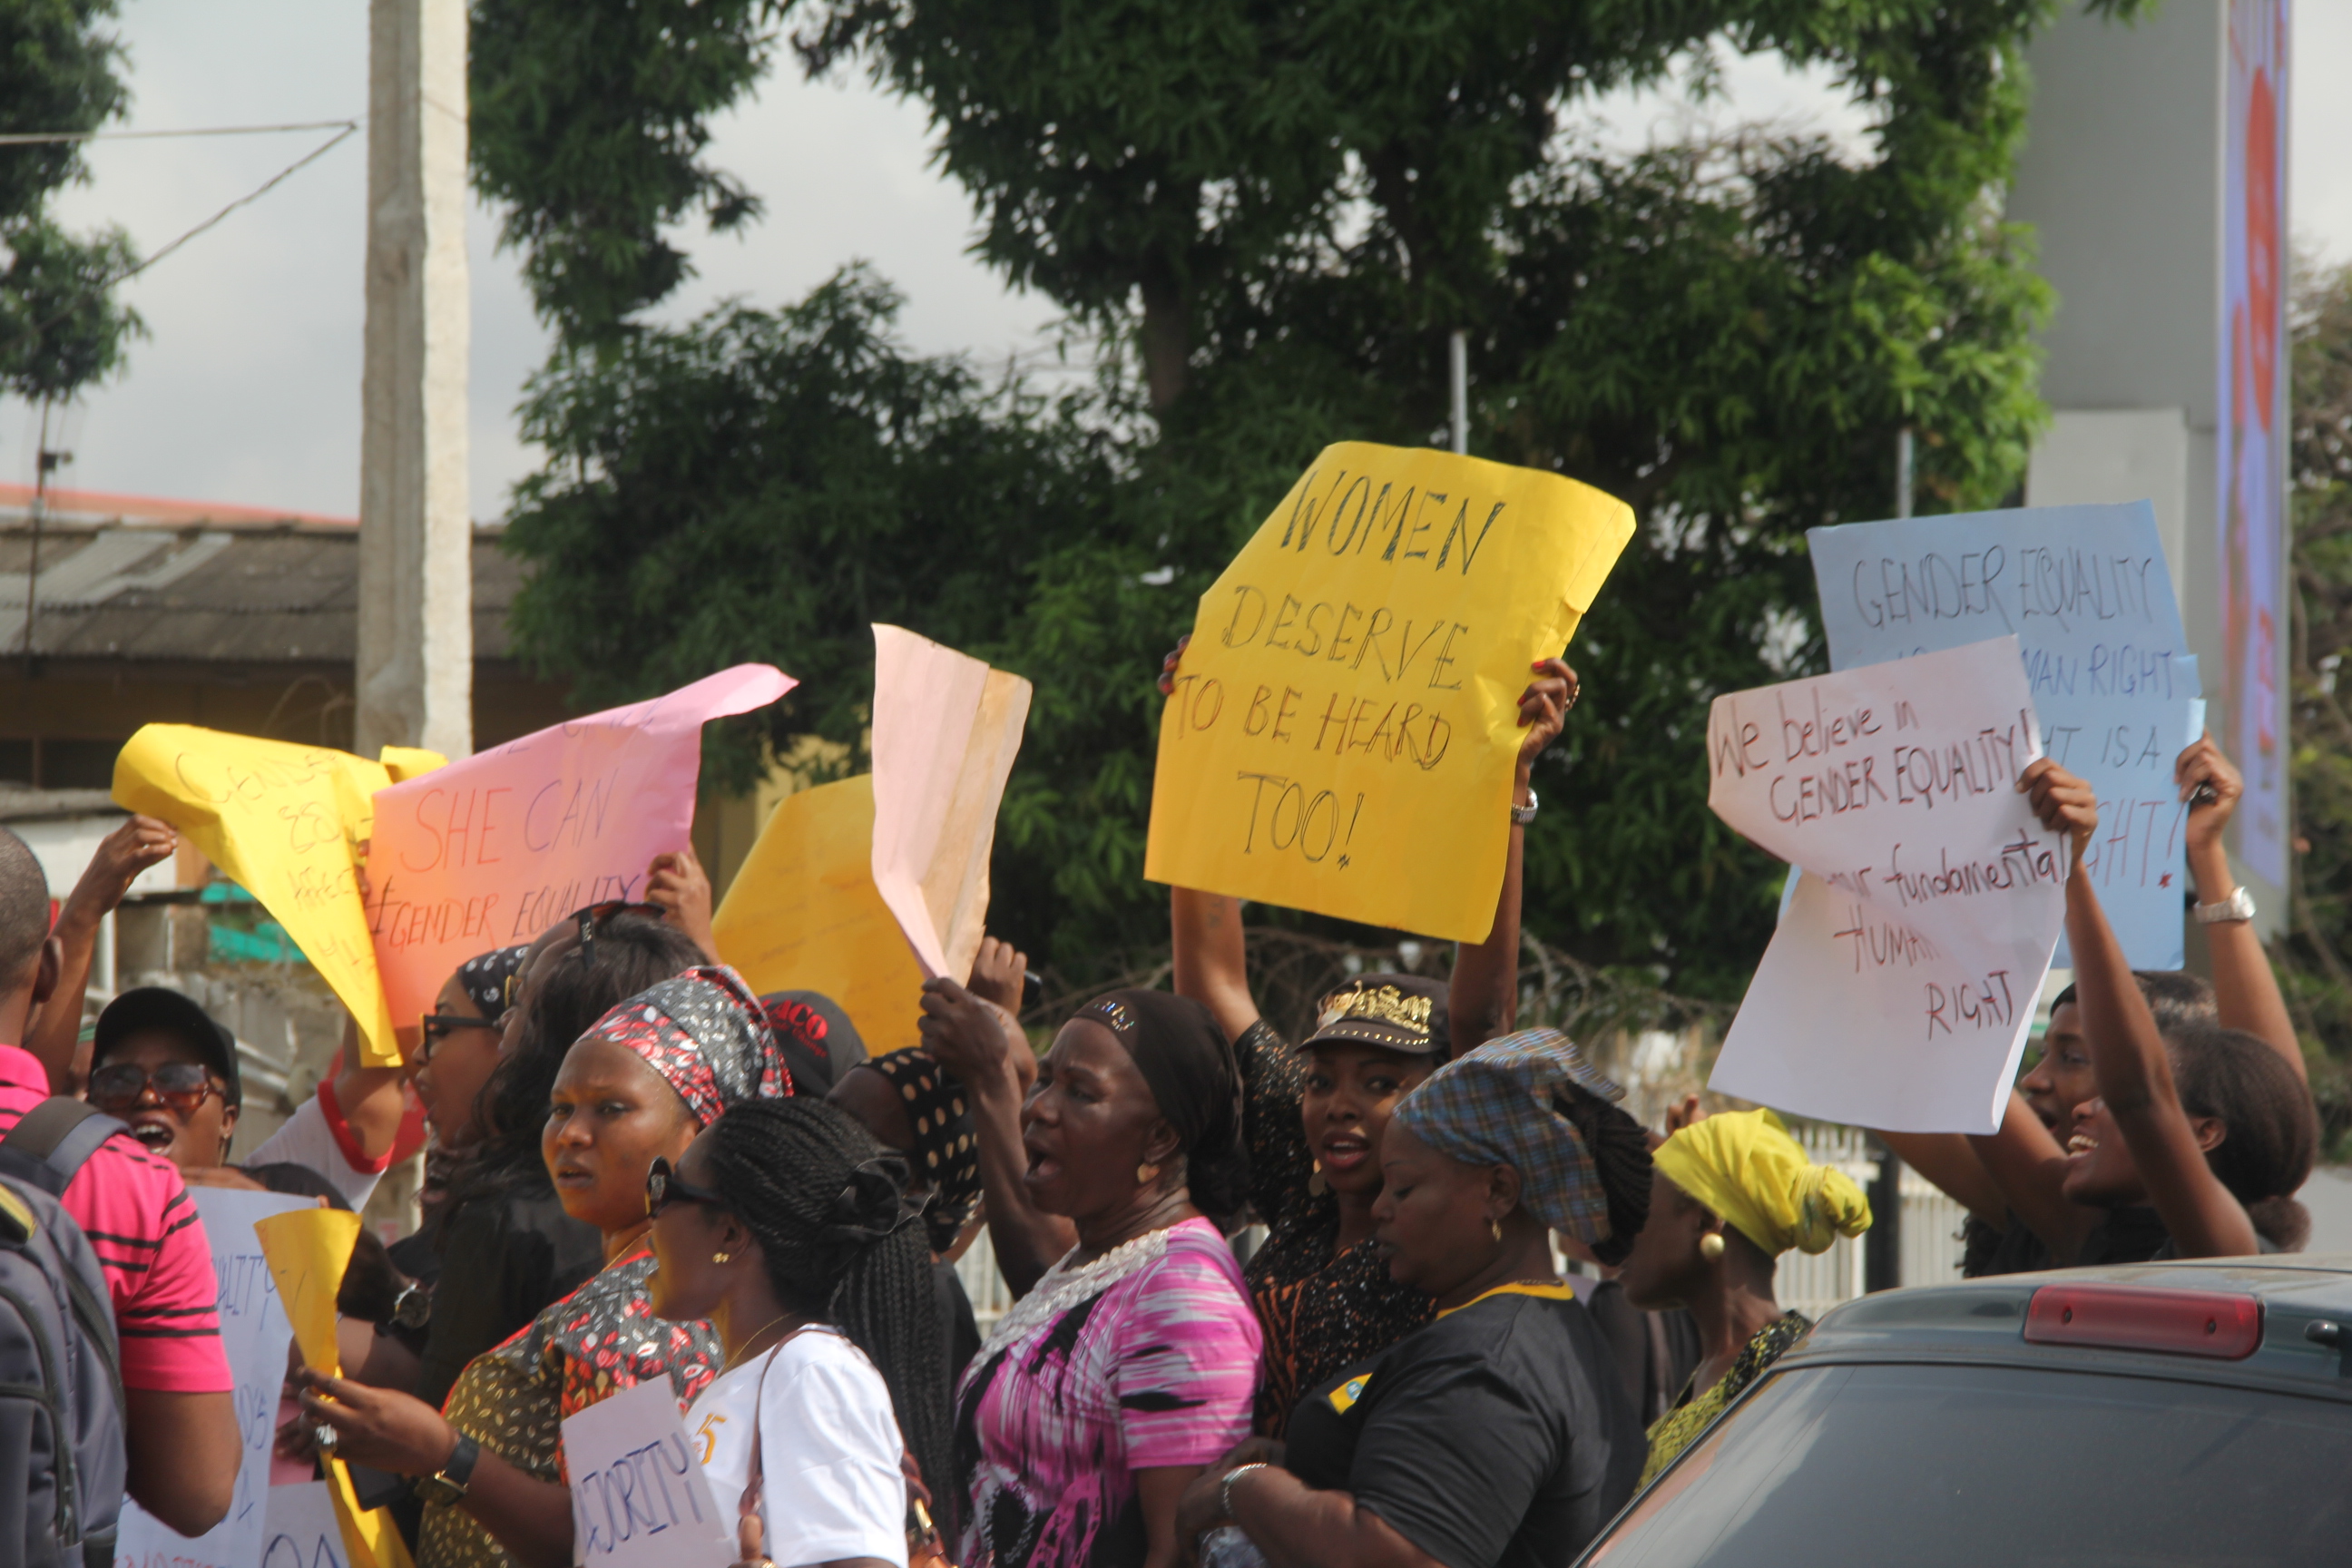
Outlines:
{"label": "pink sign reading SHE CAN with curled right corner", "polygon": [[694,827],[703,724],[795,684],[774,665],[734,665],[379,790],[367,924],[393,1018],[421,1018],[477,952],[527,943],[581,905],[642,898],[647,863]]}

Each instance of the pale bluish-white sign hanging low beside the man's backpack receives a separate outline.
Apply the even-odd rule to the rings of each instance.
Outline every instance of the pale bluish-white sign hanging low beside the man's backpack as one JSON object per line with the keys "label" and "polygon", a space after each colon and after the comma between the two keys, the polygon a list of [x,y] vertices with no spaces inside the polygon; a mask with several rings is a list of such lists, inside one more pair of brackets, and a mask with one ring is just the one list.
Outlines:
{"label": "pale bluish-white sign hanging low beside the man's backpack", "polygon": [[[118,1568],[249,1568],[263,1556],[261,1533],[273,1505],[268,1493],[278,1389],[287,1380],[287,1340],[294,1338],[294,1328],[278,1305],[278,1284],[261,1258],[254,1220],[310,1208],[315,1199],[233,1187],[191,1187],[188,1197],[195,1199],[205,1241],[212,1246],[212,1272],[221,1293],[221,1349],[228,1352],[228,1378],[235,1385],[230,1399],[245,1455],[238,1462],[238,1490],[228,1502],[228,1516],[198,1540],[188,1540],[125,1497],[115,1533]],[[308,1559],[303,1566],[308,1568]]]}

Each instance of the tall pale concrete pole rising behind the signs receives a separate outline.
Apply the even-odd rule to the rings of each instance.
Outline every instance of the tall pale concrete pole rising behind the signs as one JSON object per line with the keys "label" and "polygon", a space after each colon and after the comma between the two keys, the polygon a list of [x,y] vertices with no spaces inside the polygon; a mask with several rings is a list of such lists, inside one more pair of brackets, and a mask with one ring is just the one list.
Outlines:
{"label": "tall pale concrete pole rising behind the signs", "polygon": [[369,0],[353,745],[473,752],[466,0]]}

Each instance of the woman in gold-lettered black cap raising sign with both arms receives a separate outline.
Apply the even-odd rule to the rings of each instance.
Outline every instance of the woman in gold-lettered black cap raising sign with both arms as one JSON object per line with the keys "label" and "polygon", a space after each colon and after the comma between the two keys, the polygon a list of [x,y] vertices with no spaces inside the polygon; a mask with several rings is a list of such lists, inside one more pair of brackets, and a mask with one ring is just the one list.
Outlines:
{"label": "woman in gold-lettered black cap raising sign with both arms", "polygon": [[[1183,644],[1169,656],[1169,691]],[[1331,992],[1296,1053],[1258,1016],[1235,898],[1171,889],[1176,990],[1197,997],[1232,1039],[1247,1086],[1251,1206],[1268,1225],[1249,1260],[1249,1291],[1265,1331],[1265,1385],[1256,1429],[1282,1436],[1301,1389],[1395,1345],[1430,1321],[1430,1298],[1395,1284],[1371,1244],[1381,1197],[1381,1131],[1397,1100],[1449,1056],[1510,1027],[1519,983],[1519,860],[1536,813],[1536,757],[1576,703],[1576,670],[1534,665],[1519,696],[1510,856],[1494,929],[1461,945],[1449,987],[1374,973]]]}

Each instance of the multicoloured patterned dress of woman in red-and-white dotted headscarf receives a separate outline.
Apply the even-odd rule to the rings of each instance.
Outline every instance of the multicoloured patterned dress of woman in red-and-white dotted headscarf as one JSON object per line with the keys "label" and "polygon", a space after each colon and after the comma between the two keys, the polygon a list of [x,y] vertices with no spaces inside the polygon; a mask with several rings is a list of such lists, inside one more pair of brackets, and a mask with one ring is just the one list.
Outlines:
{"label": "multicoloured patterned dress of woman in red-and-white dotted headscarf", "polygon": [[[668,1378],[680,1413],[717,1375],[724,1352],[708,1324],[654,1316],[644,1281],[654,1253],[614,1262],[459,1373],[442,1415],[487,1453],[562,1481],[562,1420],[621,1389]],[[416,1568],[508,1568],[515,1559],[461,1507],[426,1507]]]}

